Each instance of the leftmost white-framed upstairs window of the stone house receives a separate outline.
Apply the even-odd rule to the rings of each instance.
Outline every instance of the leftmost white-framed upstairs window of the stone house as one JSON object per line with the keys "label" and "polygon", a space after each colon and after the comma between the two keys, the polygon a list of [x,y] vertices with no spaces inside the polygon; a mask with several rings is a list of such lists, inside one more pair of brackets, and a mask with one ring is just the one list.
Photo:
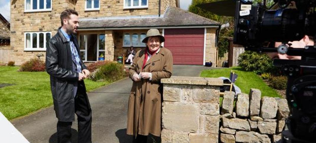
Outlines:
{"label": "leftmost white-framed upstairs window of the stone house", "polygon": [[25,12],[52,11],[52,0],[25,0]]}

